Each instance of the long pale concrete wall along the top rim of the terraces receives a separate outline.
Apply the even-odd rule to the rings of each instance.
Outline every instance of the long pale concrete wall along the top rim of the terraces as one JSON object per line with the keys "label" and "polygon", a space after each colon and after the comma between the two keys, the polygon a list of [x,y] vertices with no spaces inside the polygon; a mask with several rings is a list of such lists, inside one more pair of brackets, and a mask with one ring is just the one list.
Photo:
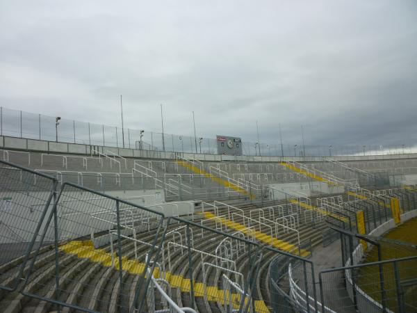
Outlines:
{"label": "long pale concrete wall along the top rim of the terraces", "polygon": [[[36,152],[54,152],[64,154],[90,154],[92,149],[99,152],[111,151],[122,157],[135,157],[145,159],[174,159],[179,155],[186,159],[197,159],[200,161],[245,161],[245,162],[279,162],[279,161],[322,161],[322,157],[249,157],[249,156],[227,156],[220,154],[194,154],[181,152],[163,152],[150,150],[136,150],[116,147],[102,147],[97,145],[81,145],[75,143],[56,143],[54,141],[39,141],[35,139],[15,138],[0,136],[0,147],[7,150],[24,150]],[[335,156],[337,161],[372,161],[392,159],[417,159],[417,154],[386,154],[367,156]]]}

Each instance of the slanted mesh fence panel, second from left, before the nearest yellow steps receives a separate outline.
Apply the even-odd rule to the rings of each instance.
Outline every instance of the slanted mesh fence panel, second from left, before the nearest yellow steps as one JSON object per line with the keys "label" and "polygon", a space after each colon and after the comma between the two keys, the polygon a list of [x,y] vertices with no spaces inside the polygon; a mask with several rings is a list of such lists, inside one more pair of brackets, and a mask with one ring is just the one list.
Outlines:
{"label": "slanted mesh fence panel, second from left, before the nearest yellow steps", "polygon": [[87,312],[129,312],[143,305],[136,290],[149,284],[145,273],[153,270],[149,261],[161,248],[163,214],[64,183],[45,220],[40,240],[49,243],[48,250],[38,250],[31,260],[22,291],[41,300],[37,310],[51,310],[55,303]]}

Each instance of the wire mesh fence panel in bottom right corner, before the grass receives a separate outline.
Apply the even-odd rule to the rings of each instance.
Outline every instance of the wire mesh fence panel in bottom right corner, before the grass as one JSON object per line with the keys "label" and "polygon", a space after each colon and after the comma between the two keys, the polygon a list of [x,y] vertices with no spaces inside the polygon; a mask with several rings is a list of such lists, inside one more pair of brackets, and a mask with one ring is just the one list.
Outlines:
{"label": "wire mesh fence panel in bottom right corner, before the grass", "polygon": [[334,312],[417,312],[417,257],[335,268],[319,276],[322,312],[325,307]]}

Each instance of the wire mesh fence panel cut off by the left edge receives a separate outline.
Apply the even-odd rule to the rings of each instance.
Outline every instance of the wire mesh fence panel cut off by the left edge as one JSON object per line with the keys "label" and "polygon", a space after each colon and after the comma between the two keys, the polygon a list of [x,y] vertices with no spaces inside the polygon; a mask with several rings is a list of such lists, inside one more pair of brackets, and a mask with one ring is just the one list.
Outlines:
{"label": "wire mesh fence panel cut off by the left edge", "polygon": [[0,161],[0,289],[15,290],[41,241],[44,217],[51,212],[57,181],[33,170]]}

